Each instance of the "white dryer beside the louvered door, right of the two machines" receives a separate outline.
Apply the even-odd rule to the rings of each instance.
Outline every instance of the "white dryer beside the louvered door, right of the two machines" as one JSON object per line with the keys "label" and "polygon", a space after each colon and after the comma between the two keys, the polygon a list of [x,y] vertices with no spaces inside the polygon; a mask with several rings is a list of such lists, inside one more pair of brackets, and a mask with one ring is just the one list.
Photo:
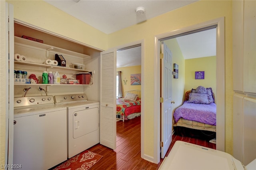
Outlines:
{"label": "white dryer beside the louvered door, right of the two machines", "polygon": [[100,102],[85,94],[56,95],[55,104],[67,108],[68,158],[100,142]]}

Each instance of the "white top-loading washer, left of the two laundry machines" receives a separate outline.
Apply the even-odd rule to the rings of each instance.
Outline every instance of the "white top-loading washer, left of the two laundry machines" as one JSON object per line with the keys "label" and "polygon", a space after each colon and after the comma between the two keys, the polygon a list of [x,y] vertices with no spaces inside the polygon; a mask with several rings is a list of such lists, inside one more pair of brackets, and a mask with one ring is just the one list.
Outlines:
{"label": "white top-loading washer, left of the two laundry machines", "polygon": [[47,170],[67,160],[66,115],[53,96],[14,98],[14,169]]}

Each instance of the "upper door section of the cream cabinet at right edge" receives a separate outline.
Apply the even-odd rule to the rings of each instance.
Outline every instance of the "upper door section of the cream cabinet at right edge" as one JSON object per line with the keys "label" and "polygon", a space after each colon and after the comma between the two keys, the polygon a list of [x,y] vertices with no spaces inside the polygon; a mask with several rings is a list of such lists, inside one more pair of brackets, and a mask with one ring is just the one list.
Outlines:
{"label": "upper door section of the cream cabinet at right edge", "polygon": [[233,88],[256,93],[256,1],[232,1]]}

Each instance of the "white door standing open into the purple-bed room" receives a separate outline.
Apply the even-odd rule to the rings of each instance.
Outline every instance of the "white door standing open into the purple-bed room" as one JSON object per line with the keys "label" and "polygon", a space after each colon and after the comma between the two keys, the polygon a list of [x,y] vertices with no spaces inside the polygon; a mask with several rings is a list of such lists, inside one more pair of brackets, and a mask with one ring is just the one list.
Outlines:
{"label": "white door standing open into the purple-bed room", "polygon": [[161,53],[161,158],[172,142],[172,53],[162,42]]}

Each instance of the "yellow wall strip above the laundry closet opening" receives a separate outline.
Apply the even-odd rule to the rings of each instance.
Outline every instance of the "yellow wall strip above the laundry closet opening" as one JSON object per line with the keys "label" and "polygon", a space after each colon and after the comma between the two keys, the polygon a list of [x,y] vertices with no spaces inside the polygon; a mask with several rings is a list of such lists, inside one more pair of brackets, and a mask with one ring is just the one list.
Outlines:
{"label": "yellow wall strip above the laundry closet opening", "polygon": [[14,5],[14,18],[18,20],[98,49],[108,49],[107,34],[42,0],[6,0],[6,2]]}

